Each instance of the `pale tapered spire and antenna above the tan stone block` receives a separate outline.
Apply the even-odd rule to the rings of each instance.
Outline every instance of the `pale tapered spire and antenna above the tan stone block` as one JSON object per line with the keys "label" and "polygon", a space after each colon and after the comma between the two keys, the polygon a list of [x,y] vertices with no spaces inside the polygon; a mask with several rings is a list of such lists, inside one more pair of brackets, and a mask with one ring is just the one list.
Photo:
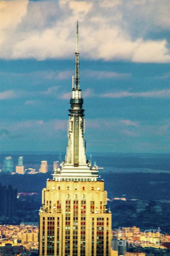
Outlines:
{"label": "pale tapered spire and antenna above the tan stone block", "polygon": [[96,181],[98,178],[97,166],[91,168],[91,161],[86,160],[86,142],[84,140],[85,120],[83,99],[79,88],[79,31],[77,22],[76,52],[75,52],[75,79],[72,80],[72,96],[70,99],[68,120],[68,146],[65,161],[61,163],[54,174],[54,179],[63,181]]}

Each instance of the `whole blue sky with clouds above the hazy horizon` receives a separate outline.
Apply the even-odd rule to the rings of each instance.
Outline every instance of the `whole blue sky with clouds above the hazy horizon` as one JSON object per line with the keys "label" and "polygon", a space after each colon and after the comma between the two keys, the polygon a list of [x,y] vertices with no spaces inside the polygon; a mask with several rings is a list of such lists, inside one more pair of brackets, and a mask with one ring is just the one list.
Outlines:
{"label": "whole blue sky with clouds above the hazy horizon", "polygon": [[1,1],[0,11],[1,151],[66,151],[78,19],[87,152],[169,152],[169,1]]}

